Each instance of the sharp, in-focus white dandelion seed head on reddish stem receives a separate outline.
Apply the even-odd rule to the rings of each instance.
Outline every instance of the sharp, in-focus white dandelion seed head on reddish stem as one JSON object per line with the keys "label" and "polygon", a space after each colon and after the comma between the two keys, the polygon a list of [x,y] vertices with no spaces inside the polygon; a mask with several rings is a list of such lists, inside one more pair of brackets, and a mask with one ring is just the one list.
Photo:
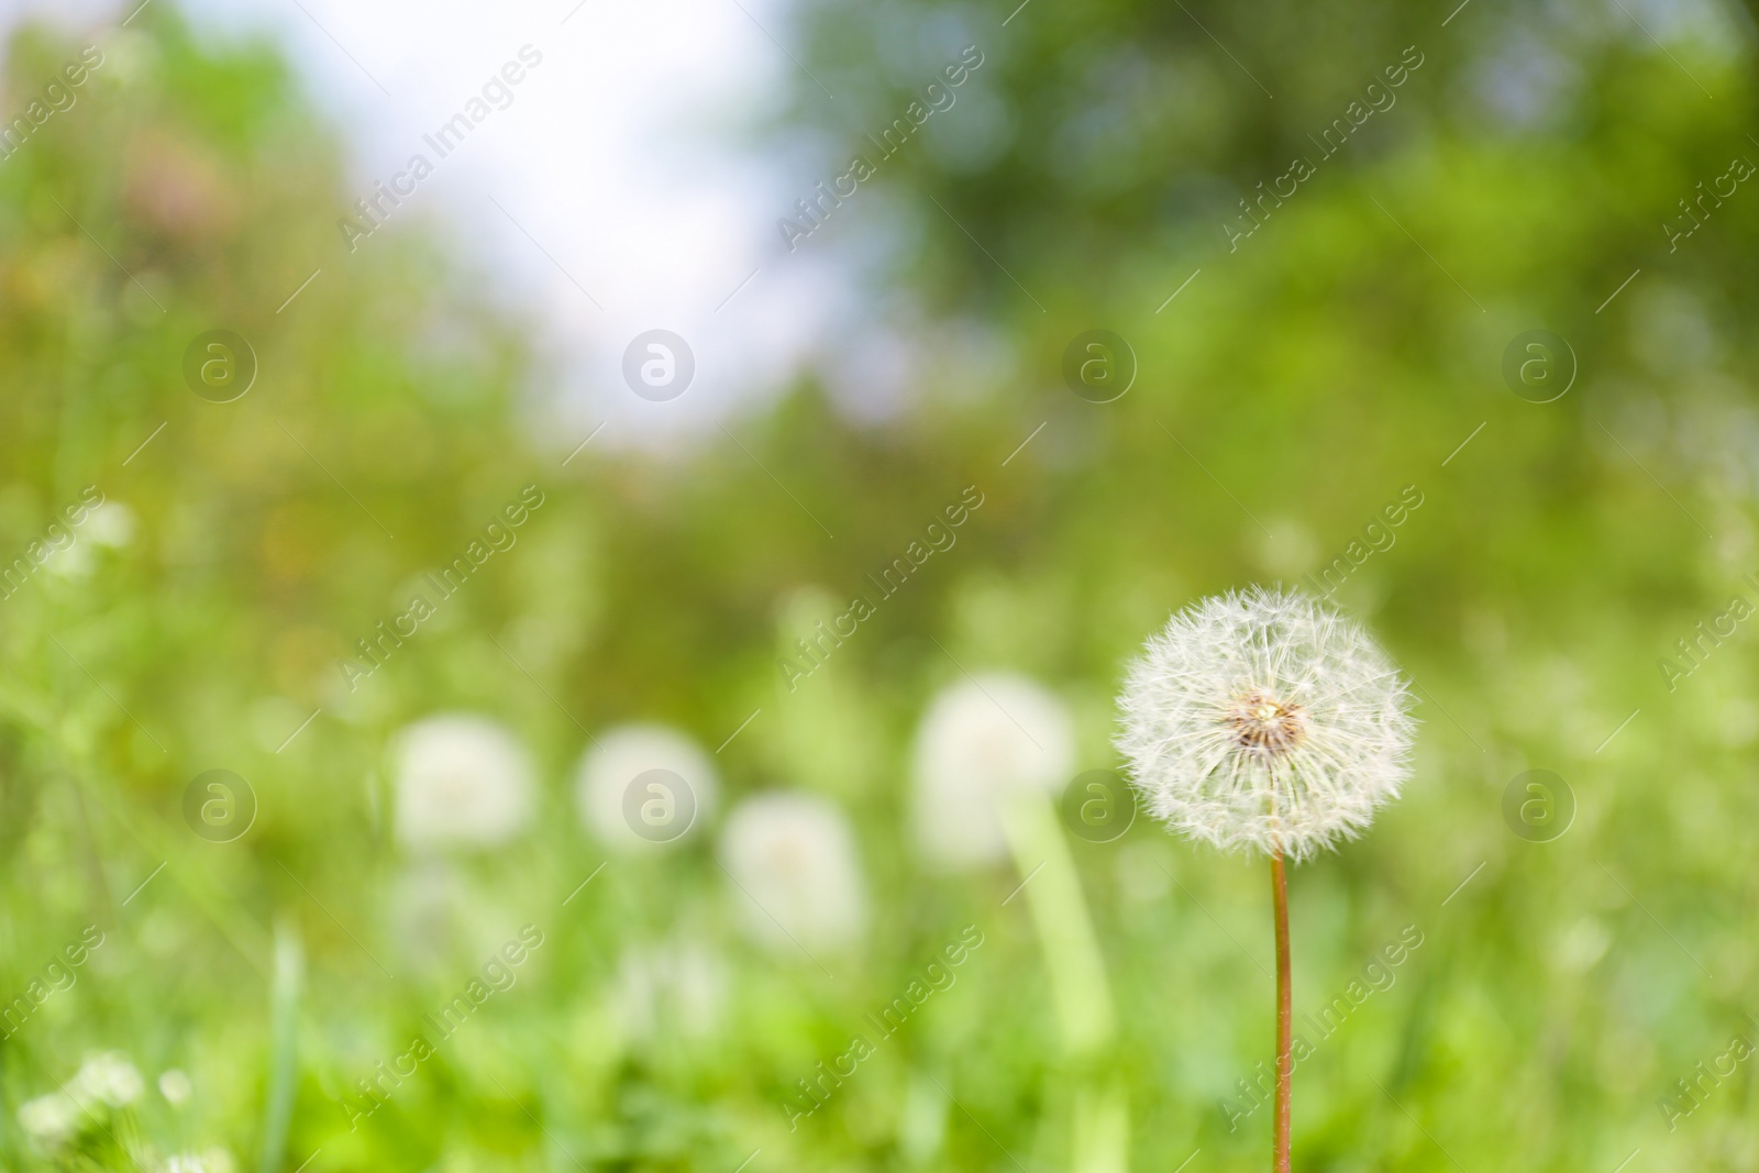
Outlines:
{"label": "sharp, in-focus white dandelion seed head on reddish stem", "polygon": [[1411,693],[1367,631],[1298,593],[1230,591],[1150,637],[1117,747],[1149,812],[1224,851],[1305,860],[1411,776]]}

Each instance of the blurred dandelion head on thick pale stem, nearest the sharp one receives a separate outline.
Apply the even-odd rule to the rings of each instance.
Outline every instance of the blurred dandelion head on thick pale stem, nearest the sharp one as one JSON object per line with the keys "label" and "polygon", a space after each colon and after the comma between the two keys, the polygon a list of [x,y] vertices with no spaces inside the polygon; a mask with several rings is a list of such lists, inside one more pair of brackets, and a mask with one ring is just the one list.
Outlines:
{"label": "blurred dandelion head on thick pale stem, nearest the sharp one", "polygon": [[1001,860],[1008,837],[999,804],[1017,793],[1057,793],[1073,765],[1069,714],[1043,686],[1013,674],[953,684],[916,732],[916,842],[945,867]]}

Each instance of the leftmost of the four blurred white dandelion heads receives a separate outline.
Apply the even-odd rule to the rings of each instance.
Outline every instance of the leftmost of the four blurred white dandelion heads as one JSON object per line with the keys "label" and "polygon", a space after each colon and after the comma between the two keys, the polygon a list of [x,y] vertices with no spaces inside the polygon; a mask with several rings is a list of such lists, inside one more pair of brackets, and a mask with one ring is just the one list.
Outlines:
{"label": "leftmost of the four blurred white dandelion heads", "polygon": [[489,848],[531,821],[531,763],[487,718],[417,721],[398,735],[396,758],[398,839],[408,848]]}

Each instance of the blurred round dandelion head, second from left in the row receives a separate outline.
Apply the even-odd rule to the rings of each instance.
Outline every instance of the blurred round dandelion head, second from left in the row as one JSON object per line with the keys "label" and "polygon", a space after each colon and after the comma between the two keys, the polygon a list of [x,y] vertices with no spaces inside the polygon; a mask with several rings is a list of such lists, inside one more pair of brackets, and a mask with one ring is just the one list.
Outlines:
{"label": "blurred round dandelion head, second from left in the row", "polygon": [[[651,770],[674,777],[644,779]],[[619,725],[580,758],[573,795],[580,821],[607,848],[639,851],[702,827],[714,812],[719,779],[684,733],[665,725]]]}

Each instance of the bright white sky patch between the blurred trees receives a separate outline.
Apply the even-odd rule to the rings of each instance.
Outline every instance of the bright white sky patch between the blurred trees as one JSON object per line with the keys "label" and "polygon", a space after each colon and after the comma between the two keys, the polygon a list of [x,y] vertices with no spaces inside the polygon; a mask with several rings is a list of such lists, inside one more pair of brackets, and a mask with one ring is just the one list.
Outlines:
{"label": "bright white sky patch between the blurred trees", "polygon": [[[786,0],[181,4],[218,42],[267,32],[283,47],[348,135],[361,195],[417,151],[434,162],[408,208],[450,218],[459,248],[531,308],[554,357],[545,390],[580,434],[605,420],[605,443],[712,433],[739,401],[774,392],[848,299],[830,267],[777,251],[776,220],[802,192],[749,146],[800,77]],[[128,11],[0,0],[0,23],[88,30]],[[422,135],[528,44],[542,63],[512,104],[438,158]],[[623,380],[624,348],[651,329],[695,355],[677,399],[637,397]]]}

